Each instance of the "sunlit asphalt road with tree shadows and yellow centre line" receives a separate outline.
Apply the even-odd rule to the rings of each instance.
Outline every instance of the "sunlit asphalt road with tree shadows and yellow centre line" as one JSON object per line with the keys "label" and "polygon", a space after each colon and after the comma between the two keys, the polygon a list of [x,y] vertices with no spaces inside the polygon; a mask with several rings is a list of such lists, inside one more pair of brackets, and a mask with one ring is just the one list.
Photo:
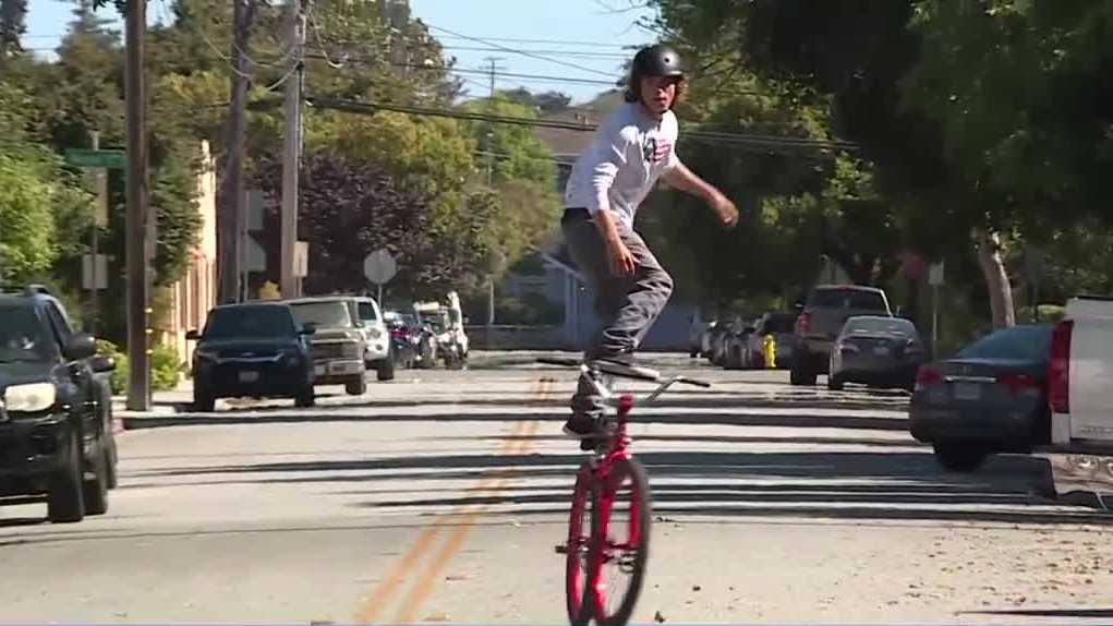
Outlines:
{"label": "sunlit asphalt road with tree shadows and yellow centre line", "polygon": [[[1113,618],[1113,517],[1048,497],[1046,461],[945,473],[903,392],[653,364],[716,384],[632,426],[657,519],[636,620]],[[129,419],[108,515],[0,508],[0,620],[563,623],[573,378],[489,355],[308,410]]]}

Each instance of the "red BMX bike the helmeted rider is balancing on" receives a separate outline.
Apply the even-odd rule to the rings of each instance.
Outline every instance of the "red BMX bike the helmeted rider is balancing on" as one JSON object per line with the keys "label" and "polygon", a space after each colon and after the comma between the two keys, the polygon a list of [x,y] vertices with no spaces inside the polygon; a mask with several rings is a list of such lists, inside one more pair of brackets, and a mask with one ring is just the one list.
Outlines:
{"label": "red BMX bike the helmeted rider is balancing on", "polygon": [[[564,591],[572,626],[587,625],[592,618],[600,626],[624,625],[641,594],[653,506],[646,469],[629,448],[627,422],[636,405],[657,400],[673,384],[705,388],[711,384],[684,376],[662,382],[654,370],[605,361],[541,359],[540,362],[578,366],[612,409],[601,419],[594,436],[594,452],[577,473],[568,540],[556,546],[556,552],[567,559]],[[615,394],[612,378],[659,384],[639,399],[629,393]]]}

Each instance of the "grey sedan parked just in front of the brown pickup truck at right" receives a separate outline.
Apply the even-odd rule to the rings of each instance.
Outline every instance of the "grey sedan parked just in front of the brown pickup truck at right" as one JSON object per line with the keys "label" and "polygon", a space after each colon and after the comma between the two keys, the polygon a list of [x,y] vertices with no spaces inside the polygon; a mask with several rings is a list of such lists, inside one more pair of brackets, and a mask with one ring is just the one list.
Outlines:
{"label": "grey sedan parked just in front of the brown pickup truck at right", "polygon": [[843,325],[831,350],[827,387],[853,382],[912,391],[927,351],[915,324],[903,317],[859,315]]}

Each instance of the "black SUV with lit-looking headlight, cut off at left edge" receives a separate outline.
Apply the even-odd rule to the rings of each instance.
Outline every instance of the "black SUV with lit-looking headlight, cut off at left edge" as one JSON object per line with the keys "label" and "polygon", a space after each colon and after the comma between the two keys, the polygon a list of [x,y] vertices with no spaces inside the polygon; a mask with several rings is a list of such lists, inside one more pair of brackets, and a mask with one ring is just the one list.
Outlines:
{"label": "black SUV with lit-looking headlight, cut off at left edge", "polygon": [[[115,368],[42,287],[0,294],[0,498],[46,496],[51,521],[108,510]],[[2,502],[2,500],[0,500]]]}

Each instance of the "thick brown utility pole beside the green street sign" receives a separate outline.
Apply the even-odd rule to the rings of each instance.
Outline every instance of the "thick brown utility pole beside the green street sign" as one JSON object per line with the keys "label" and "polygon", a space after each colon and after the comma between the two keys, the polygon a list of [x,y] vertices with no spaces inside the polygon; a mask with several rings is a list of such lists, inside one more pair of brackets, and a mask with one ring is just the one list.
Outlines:
{"label": "thick brown utility pole beside the green street sign", "polygon": [[127,60],[125,92],[128,133],[128,410],[150,409],[150,368],[147,352],[147,88],[144,76],[144,38],[147,0],[127,3]]}

